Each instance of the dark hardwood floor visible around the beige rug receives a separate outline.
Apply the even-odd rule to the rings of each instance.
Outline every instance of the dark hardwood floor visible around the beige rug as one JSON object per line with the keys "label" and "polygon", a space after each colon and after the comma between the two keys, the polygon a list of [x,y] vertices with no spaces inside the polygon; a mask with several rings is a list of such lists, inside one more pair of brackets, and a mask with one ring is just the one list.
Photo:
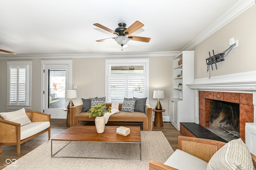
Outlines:
{"label": "dark hardwood floor visible around the beige rug", "polygon": [[[153,123],[154,125],[154,123]],[[51,119],[51,137],[60,134],[60,132],[66,130],[69,126],[66,126],[66,119]],[[162,131],[166,136],[168,142],[172,146],[173,150],[178,148],[178,131],[171,123],[164,123],[164,127],[157,128],[153,126],[153,131]],[[2,145],[2,153],[0,154],[0,170],[3,169],[6,164],[6,159],[18,159],[34,150],[44,142],[48,140],[48,132],[45,132],[23,144],[21,144],[20,157],[17,157],[16,146]]]}

